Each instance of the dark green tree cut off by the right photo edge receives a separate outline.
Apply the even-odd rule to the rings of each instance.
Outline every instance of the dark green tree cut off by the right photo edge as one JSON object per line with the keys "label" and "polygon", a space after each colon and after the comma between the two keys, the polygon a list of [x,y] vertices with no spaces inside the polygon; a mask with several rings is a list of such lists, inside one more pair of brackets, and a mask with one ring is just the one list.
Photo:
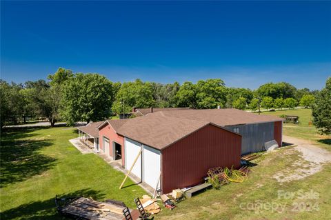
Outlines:
{"label": "dark green tree cut off by the right photo edge", "polygon": [[317,94],[312,106],[313,123],[322,134],[331,134],[331,77]]}

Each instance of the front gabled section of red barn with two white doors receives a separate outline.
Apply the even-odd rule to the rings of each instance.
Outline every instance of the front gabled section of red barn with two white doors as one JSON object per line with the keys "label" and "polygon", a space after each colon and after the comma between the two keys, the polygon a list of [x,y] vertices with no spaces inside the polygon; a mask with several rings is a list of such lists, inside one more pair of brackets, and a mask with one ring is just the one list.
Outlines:
{"label": "front gabled section of red barn with two white doors", "polygon": [[151,114],[118,132],[125,137],[126,170],[142,151],[131,172],[163,193],[202,183],[210,168],[240,166],[241,135],[210,122]]}

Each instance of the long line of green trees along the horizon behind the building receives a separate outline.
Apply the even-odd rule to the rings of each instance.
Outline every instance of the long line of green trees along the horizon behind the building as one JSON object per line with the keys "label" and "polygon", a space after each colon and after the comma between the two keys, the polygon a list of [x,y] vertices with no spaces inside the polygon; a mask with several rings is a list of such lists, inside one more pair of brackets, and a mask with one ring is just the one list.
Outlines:
{"label": "long line of green trees along the horizon behind the building", "polygon": [[[180,84],[112,82],[95,73],[73,73],[59,68],[48,80],[8,83],[0,81],[1,128],[8,123],[25,122],[28,117],[46,117],[51,125],[59,120],[100,121],[136,108],[190,107],[310,108],[321,95],[318,90],[297,89],[290,83],[265,83],[257,90],[227,88],[221,79],[185,81]],[[330,81],[330,79],[328,79]]]}

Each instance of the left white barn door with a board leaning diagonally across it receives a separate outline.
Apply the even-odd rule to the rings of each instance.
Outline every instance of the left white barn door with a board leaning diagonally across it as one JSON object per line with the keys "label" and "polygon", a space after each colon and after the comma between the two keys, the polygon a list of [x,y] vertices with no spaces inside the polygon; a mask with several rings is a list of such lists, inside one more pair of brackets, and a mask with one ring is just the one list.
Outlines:
{"label": "left white barn door with a board leaning diagonally across it", "polygon": [[[139,151],[141,150],[141,144],[137,141],[132,141],[131,139],[126,138],[124,146],[126,146],[126,170],[130,170],[134,159],[136,159]],[[141,155],[137,159],[137,162],[134,164],[131,172],[137,177],[141,178]]]}

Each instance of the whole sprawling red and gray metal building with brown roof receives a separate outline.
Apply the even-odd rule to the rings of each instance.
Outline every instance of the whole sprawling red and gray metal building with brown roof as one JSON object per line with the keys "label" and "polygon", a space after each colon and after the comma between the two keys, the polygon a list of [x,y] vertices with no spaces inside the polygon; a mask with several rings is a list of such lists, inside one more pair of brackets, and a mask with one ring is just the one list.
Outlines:
{"label": "whole sprawling red and gray metal building with brown roof", "polygon": [[150,113],[99,124],[99,150],[126,170],[139,155],[132,174],[164,193],[201,183],[209,168],[238,168],[241,154],[263,150],[267,141],[281,146],[278,117],[236,109]]}

